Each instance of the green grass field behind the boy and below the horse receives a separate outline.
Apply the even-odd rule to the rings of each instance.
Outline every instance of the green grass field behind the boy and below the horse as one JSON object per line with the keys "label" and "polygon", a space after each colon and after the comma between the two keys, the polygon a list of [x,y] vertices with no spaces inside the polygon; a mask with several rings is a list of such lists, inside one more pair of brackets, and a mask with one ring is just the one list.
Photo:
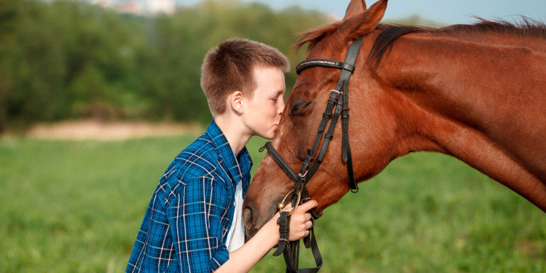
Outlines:
{"label": "green grass field behind the boy and below the horse", "polygon": [[[159,177],[193,138],[0,139],[0,273],[124,272]],[[397,159],[316,233],[323,273],[546,272],[546,214],[439,154]],[[269,254],[252,272],[284,262]]]}

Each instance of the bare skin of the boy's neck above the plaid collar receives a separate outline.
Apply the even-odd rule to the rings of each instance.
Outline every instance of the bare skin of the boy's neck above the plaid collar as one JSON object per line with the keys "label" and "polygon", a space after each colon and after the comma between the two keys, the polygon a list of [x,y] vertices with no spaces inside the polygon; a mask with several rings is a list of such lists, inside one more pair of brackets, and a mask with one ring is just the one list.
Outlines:
{"label": "bare skin of the boy's neck above the plaid collar", "polygon": [[237,154],[245,148],[245,145],[247,145],[252,134],[247,132],[240,120],[230,118],[228,115],[217,115],[214,118],[214,121],[216,122],[216,125],[220,127],[220,130],[222,130],[225,138],[228,139],[233,154],[237,156]]}

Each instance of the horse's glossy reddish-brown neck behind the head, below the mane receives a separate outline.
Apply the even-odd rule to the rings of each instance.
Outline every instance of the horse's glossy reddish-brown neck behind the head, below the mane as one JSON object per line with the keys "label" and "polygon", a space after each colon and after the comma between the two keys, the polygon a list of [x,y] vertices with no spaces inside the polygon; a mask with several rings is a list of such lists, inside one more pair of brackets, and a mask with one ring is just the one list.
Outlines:
{"label": "horse's glossy reddish-brown neck behind the head, below the mane", "polygon": [[[437,144],[432,149],[456,156],[546,211],[543,45],[544,39],[524,47],[514,39],[403,37],[378,77],[408,102],[398,109],[401,117],[415,119],[407,122],[415,127],[407,132],[424,136]],[[417,142],[407,151],[419,149],[411,147]]]}

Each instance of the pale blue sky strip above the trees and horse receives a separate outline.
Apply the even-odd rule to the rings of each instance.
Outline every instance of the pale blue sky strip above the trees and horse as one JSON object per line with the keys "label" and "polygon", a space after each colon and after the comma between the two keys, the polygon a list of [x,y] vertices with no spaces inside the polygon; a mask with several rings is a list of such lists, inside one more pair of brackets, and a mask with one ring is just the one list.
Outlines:
{"label": "pale blue sky strip above the trees and horse", "polygon": [[[199,0],[176,0],[178,4],[191,5]],[[273,9],[298,5],[343,18],[349,0],[240,0],[269,4]],[[373,1],[366,1],[368,6]],[[385,19],[396,20],[412,15],[438,23],[474,23],[479,16],[486,19],[513,19],[518,15],[546,21],[546,0],[389,0]]]}

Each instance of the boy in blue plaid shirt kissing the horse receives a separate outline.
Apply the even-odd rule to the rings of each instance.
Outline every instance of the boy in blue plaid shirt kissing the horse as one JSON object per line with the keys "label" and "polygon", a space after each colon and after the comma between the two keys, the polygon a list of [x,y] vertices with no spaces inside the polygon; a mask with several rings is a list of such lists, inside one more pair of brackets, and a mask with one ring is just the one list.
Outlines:
{"label": "boy in blue plaid shirt kissing the horse", "polygon": [[[284,108],[287,58],[243,39],[205,55],[201,87],[213,121],[168,166],[151,198],[126,272],[247,272],[279,239],[274,216],[245,243],[242,199],[252,161],[245,145],[272,139]],[[290,240],[309,234],[315,201],[291,216]]]}

